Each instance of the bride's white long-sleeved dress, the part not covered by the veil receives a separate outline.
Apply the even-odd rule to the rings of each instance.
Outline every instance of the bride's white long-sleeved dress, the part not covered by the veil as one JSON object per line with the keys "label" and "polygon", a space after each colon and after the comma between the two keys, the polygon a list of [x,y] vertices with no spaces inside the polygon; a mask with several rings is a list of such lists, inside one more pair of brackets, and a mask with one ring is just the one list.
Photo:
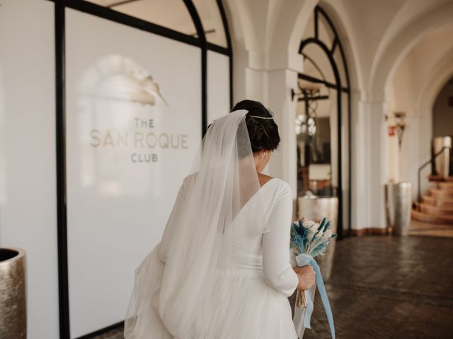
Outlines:
{"label": "bride's white long-sleeved dress, the part not covered by the veil", "polygon": [[[256,208],[262,207],[265,222],[256,225]],[[204,338],[297,338],[287,300],[298,283],[289,265],[291,217],[291,190],[278,178],[261,186],[236,215],[224,234],[225,265]]]}

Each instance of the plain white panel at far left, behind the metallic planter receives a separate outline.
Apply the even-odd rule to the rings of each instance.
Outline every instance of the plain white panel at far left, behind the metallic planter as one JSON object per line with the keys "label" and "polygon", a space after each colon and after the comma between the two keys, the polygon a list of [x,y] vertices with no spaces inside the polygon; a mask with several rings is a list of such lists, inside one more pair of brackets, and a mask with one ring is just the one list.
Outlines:
{"label": "plain white panel at far left, behind the metallic planter", "polygon": [[50,1],[0,7],[0,245],[27,252],[28,338],[59,338]]}

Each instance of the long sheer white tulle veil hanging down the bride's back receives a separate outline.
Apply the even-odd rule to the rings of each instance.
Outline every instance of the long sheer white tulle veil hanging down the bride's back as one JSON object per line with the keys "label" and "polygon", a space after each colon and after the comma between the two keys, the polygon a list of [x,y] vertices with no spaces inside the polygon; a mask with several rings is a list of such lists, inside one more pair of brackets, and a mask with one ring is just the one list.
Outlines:
{"label": "long sheer white tulle veil hanging down the bride's back", "polygon": [[[260,199],[246,113],[226,114],[207,130],[161,243],[135,271],[125,338],[205,338],[222,302],[217,283],[238,241],[229,227],[250,199]],[[251,207],[256,222],[241,225],[243,239],[265,232],[261,204]]]}

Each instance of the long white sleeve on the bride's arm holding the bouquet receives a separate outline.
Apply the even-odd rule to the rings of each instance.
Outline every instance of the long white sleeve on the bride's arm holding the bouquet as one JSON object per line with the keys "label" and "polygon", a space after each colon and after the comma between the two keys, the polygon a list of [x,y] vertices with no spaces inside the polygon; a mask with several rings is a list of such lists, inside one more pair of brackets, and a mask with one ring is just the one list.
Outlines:
{"label": "long white sleeve on the bride's arm holding the bouquet", "polygon": [[299,283],[290,264],[289,242],[292,219],[292,193],[282,185],[263,234],[263,275],[269,285],[288,297]]}

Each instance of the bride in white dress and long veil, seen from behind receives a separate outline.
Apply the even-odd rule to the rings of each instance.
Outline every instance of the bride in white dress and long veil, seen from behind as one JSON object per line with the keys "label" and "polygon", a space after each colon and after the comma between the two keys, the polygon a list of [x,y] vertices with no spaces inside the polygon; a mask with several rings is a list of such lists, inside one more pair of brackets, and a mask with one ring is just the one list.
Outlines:
{"label": "bride in white dress and long veil, seen from behind", "polygon": [[297,339],[287,297],[314,285],[289,263],[292,192],[261,171],[273,114],[243,100],[207,129],[161,242],[135,270],[126,339]]}

